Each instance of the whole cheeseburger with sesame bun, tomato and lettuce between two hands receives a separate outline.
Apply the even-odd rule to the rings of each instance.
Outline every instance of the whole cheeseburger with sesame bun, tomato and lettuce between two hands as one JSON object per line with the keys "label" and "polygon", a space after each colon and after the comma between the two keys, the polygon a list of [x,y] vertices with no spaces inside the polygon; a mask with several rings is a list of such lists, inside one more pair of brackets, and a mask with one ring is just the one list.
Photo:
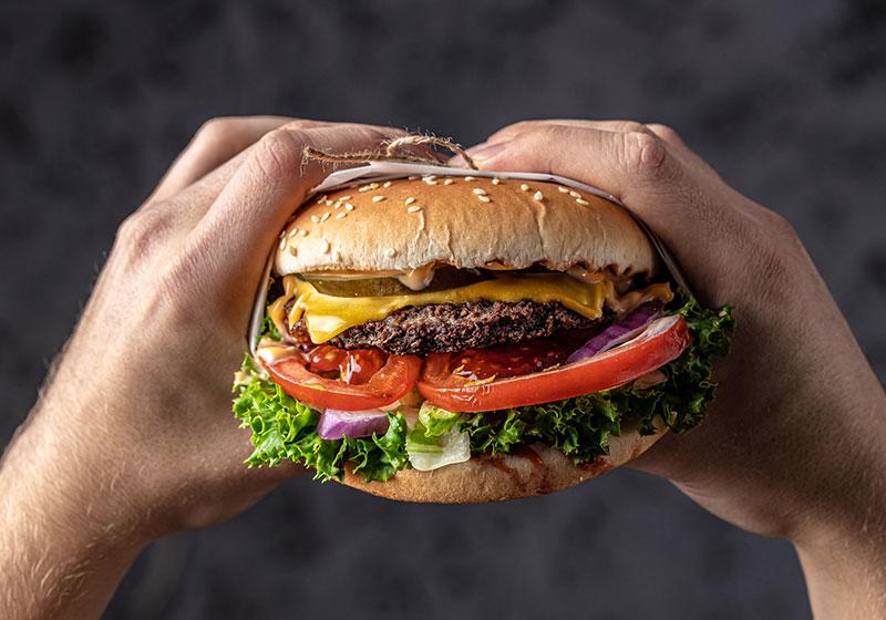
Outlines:
{"label": "whole cheeseburger with sesame bun, tomato and lettuce between two hands", "polygon": [[247,464],[409,502],[546,494],[684,433],[732,329],[622,207],[457,170],[310,198],[265,286],[235,380]]}

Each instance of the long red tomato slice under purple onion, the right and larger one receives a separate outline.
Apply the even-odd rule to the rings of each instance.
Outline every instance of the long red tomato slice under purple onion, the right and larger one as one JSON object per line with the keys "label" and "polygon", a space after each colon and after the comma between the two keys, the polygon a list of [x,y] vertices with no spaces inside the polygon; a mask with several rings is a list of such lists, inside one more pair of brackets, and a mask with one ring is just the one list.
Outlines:
{"label": "long red tomato slice under purple onion, the right and larger one", "polygon": [[691,337],[682,317],[652,322],[636,339],[586,360],[507,379],[468,380],[454,374],[451,355],[429,355],[419,392],[449,411],[477,412],[534,405],[601,392],[676,360]]}

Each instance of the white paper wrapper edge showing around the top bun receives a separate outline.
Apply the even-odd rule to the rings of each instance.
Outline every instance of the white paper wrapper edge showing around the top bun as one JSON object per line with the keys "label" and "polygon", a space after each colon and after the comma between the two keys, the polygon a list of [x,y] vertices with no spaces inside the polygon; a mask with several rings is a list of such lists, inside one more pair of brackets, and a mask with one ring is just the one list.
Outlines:
{"label": "white paper wrapper edge showing around the top bun", "polygon": [[[674,282],[677,282],[677,285],[680,288],[689,291],[689,287],[686,283],[686,278],[683,278],[682,273],[680,273],[680,270],[677,267],[677,262],[674,261],[673,257],[670,255],[668,249],[658,239],[658,237],[656,237],[656,235],[649,229],[649,227],[639,217],[632,214],[630,209],[624,203],[621,203],[621,200],[619,200],[611,194],[598,189],[597,187],[585,185],[584,183],[579,183],[577,180],[573,180],[571,178],[566,178],[563,176],[539,174],[539,173],[472,170],[470,168],[452,168],[449,166],[433,166],[430,164],[425,165],[425,164],[412,164],[412,163],[401,163],[401,162],[370,162],[362,166],[337,170],[330,174],[320,185],[313,188],[308,198],[310,199],[311,196],[316,196],[318,194],[324,194],[333,189],[349,187],[352,185],[363,185],[367,182],[387,180],[391,178],[403,178],[406,176],[429,175],[429,174],[435,174],[440,176],[446,176],[446,175],[474,176],[474,177],[497,176],[498,178],[546,180],[546,182],[557,183],[566,187],[580,189],[581,192],[586,192],[588,194],[594,194],[601,198],[606,198],[610,203],[615,203],[616,205],[624,208],[631,215],[631,217],[633,217],[635,220],[637,220],[637,224],[640,225],[640,227],[646,231],[646,234],[652,240],[652,245],[655,246],[659,256],[661,256],[661,260],[662,262],[664,262],[664,266],[668,268],[668,271],[670,271]],[[249,322],[249,333],[247,334],[247,339],[249,342],[249,351],[253,354],[255,354],[256,352],[255,350],[256,339],[261,328],[261,319],[265,316],[265,306],[267,301],[267,291],[268,291],[267,282],[268,278],[270,277],[270,270],[272,264],[274,264],[274,252],[271,251],[270,257],[268,257],[268,265],[265,269],[265,278],[261,280],[261,285],[259,286],[258,289],[258,294],[256,296],[256,303],[253,309],[251,321]]]}

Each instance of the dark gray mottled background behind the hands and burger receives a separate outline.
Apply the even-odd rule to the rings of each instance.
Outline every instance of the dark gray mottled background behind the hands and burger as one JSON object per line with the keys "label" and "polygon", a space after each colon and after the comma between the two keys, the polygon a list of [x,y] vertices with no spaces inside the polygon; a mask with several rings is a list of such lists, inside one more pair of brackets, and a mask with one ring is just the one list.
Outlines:
{"label": "dark gray mottled background behind the hands and burger", "polygon": [[[13,1],[0,18],[0,445],[120,220],[222,114],[390,123],[462,143],[524,117],[668,123],[796,226],[886,374],[878,0]],[[787,544],[617,472],[481,507],[300,479],[227,525],[154,545],[107,617],[555,614],[810,611]]]}

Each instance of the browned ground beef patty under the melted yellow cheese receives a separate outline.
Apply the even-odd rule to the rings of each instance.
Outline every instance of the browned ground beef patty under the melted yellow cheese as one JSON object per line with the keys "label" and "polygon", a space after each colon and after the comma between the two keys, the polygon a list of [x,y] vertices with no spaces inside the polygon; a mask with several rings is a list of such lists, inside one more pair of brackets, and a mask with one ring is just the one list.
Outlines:
{"label": "browned ground beef patty under the melted yellow cheese", "polygon": [[[328,344],[340,349],[374,347],[398,355],[455,352],[547,338],[564,331],[599,330],[608,322],[608,318],[587,319],[558,302],[435,303],[402,308],[381,321],[354,326]],[[298,341],[308,340],[303,321],[292,327],[291,334]]]}

